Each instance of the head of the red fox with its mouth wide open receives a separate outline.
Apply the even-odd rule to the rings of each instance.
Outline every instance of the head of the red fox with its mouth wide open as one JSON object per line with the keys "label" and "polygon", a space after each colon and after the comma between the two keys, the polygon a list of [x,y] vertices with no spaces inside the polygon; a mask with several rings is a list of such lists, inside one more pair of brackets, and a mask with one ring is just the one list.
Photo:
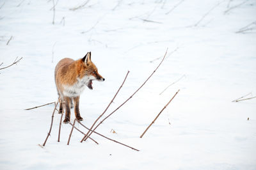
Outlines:
{"label": "head of the red fox with its mouth wide open", "polygon": [[93,89],[92,81],[105,81],[105,79],[98,73],[97,67],[92,62],[91,52],[81,59],[80,79],[84,80],[84,83],[89,89]]}

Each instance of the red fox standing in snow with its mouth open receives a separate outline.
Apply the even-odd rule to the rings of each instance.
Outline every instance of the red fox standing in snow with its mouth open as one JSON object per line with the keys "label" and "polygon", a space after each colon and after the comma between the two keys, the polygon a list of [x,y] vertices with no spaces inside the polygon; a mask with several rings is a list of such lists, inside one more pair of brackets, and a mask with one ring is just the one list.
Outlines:
{"label": "red fox standing in snow with its mouth open", "polygon": [[60,98],[60,110],[63,112],[65,104],[66,116],[64,123],[70,122],[70,106],[74,100],[74,112],[77,120],[83,118],[79,112],[79,98],[85,86],[93,89],[92,81],[105,81],[98,73],[97,67],[92,63],[91,52],[87,52],[84,58],[74,61],[74,59],[64,58],[55,67],[55,84]]}

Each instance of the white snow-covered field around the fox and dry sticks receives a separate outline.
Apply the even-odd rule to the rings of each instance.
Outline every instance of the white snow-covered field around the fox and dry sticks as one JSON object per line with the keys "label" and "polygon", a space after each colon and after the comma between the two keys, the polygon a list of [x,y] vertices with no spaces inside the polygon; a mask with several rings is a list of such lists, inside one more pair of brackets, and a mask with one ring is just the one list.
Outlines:
{"label": "white snow-covered field around the fox and dry sticks", "polygon": [[[88,1],[70,10],[84,3],[58,1],[52,24],[52,1],[0,1],[0,68],[22,57],[0,70],[0,169],[256,169],[256,98],[232,102],[256,96],[255,0]],[[243,32],[245,26],[250,30]],[[81,95],[90,127],[127,71],[106,115],[147,79],[167,48],[147,84],[97,128],[140,151],[98,135],[92,135],[98,145],[80,143],[76,130],[67,146],[71,126],[65,124],[58,143],[60,114],[45,147],[38,146],[54,105],[24,109],[57,100],[54,67],[61,58],[92,51],[106,79]]]}

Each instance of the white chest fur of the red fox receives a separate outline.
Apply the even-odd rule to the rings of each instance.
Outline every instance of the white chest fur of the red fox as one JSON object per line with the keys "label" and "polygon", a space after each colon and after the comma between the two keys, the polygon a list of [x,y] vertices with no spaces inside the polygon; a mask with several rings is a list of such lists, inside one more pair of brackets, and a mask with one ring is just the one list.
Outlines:
{"label": "white chest fur of the red fox", "polygon": [[77,82],[72,86],[63,85],[63,95],[65,97],[77,97],[81,95],[89,82],[90,77],[84,76],[82,79],[77,78]]}

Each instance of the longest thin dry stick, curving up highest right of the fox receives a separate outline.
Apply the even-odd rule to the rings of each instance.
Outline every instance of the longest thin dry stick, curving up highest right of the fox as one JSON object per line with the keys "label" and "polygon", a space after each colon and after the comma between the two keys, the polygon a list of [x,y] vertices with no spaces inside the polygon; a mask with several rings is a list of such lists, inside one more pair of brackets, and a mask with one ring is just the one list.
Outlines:
{"label": "longest thin dry stick, curving up highest right of the fox", "polygon": [[[159,65],[157,66],[157,68],[159,68],[159,66],[163,63],[164,58],[165,58],[165,56],[166,56],[166,54],[167,54],[167,51],[168,51],[168,49],[166,49],[166,52],[165,52],[165,54],[164,54],[164,57],[163,57],[162,61],[159,63]],[[99,125],[100,125],[101,123],[103,123],[104,120],[108,119],[109,116],[111,116],[111,115],[112,115],[114,112],[116,112],[120,107],[122,107],[122,105],[124,105],[126,102],[128,102],[128,101],[144,86],[144,84],[146,84],[146,82],[148,81],[148,79],[150,79],[150,77],[152,77],[152,75],[156,72],[157,68],[154,70],[154,72],[151,73],[151,75],[147,78],[147,80],[146,80],[145,82],[143,82],[143,84],[141,84],[140,88],[138,88],[138,89],[131,95],[131,97],[127,98],[127,100],[125,100],[125,102],[124,102],[123,104],[121,104],[120,106],[118,106],[118,107],[115,109],[115,111],[111,112],[108,116],[106,116],[106,118],[104,118],[102,121],[100,121],[100,123],[92,130],[92,132],[94,132],[94,130],[95,130],[97,127],[99,127]],[[88,136],[90,136],[90,135],[92,134],[92,132],[91,132]],[[88,138],[88,137],[86,137],[86,138],[84,139],[84,141],[86,141],[87,138]],[[81,142],[83,142],[83,141],[81,141]]]}

